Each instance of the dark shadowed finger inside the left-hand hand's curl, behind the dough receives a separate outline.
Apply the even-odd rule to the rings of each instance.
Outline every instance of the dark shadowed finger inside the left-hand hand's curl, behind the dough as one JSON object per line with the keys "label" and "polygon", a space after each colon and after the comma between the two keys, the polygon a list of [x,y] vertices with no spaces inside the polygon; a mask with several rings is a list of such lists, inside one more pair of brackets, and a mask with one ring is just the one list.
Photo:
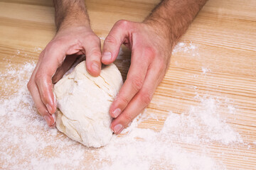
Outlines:
{"label": "dark shadowed finger inside the left-hand hand's curl, behind the dough", "polygon": [[70,67],[73,66],[73,64],[77,61],[79,56],[80,55],[68,55],[65,57],[63,64],[60,67],[58,67],[57,71],[55,72],[52,78],[53,83],[58,82],[63,77],[63,75],[66,72],[68,72],[68,69],[70,69]]}

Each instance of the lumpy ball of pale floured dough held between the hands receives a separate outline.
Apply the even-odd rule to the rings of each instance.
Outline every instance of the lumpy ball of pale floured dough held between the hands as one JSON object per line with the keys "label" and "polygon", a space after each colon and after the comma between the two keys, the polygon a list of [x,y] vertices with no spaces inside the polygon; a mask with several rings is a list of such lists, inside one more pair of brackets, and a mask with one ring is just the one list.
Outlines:
{"label": "lumpy ball of pale floured dough held between the hands", "polygon": [[122,84],[114,64],[103,67],[99,77],[92,77],[85,61],[80,62],[54,86],[58,130],[87,147],[107,145],[113,134],[109,109]]}

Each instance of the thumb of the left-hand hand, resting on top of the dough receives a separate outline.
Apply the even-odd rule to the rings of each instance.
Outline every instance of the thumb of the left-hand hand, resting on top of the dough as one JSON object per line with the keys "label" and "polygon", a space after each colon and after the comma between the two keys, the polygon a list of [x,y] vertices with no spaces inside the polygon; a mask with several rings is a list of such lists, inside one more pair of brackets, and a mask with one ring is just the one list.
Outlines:
{"label": "thumb of the left-hand hand, resting on top of the dough", "polygon": [[86,56],[86,68],[92,76],[99,76],[101,69],[101,56],[100,38],[93,36],[88,38],[84,44],[85,56]]}

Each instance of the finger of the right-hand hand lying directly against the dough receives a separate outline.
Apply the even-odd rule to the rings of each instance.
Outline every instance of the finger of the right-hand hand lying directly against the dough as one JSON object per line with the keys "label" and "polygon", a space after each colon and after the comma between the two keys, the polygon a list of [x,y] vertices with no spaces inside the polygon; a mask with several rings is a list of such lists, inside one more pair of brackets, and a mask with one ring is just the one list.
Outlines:
{"label": "finger of the right-hand hand lying directly against the dough", "polygon": [[143,51],[140,51],[140,49],[138,47],[133,50],[132,64],[127,74],[127,80],[124,82],[122,89],[120,89],[117,98],[115,98],[110,106],[110,115],[113,118],[117,118],[122,113],[134,95],[142,88],[152,54],[146,49]]}

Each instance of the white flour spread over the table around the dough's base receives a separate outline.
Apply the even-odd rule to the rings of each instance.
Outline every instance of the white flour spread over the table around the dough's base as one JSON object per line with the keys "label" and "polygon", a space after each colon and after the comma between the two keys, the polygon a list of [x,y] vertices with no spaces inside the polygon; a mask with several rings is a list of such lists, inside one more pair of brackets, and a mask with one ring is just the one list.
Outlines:
{"label": "white flour spread over the table around the dough's base", "polygon": [[[235,115],[236,106],[228,99],[220,101],[215,96],[198,94],[198,105],[187,111],[166,111],[161,130],[138,127],[149,118],[160,119],[144,111],[122,135],[112,137],[109,145],[99,149],[84,147],[55,128],[48,128],[36,112],[26,89],[35,66],[33,62],[24,63],[18,69],[6,69],[0,76],[4,87],[0,99],[1,169],[227,169],[222,160],[228,157],[228,148],[251,147],[220,114],[226,109]],[[9,93],[9,86],[17,90]],[[214,143],[225,149],[212,152]]]}

